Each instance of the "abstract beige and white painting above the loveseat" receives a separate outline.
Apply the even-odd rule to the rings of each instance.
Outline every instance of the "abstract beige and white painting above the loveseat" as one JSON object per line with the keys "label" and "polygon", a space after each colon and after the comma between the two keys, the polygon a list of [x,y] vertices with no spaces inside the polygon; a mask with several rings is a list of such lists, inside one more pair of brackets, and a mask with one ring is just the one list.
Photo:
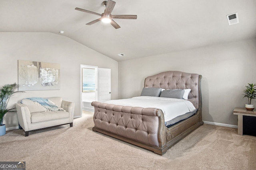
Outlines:
{"label": "abstract beige and white painting above the loveseat", "polygon": [[18,60],[18,90],[60,90],[60,64]]}

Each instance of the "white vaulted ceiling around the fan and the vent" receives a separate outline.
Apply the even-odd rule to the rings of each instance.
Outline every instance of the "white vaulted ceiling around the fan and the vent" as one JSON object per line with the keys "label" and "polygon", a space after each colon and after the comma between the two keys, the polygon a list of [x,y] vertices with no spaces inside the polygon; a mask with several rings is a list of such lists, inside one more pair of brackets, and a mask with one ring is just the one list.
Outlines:
{"label": "white vaulted ceiling around the fan and the vent", "polygon": [[[0,0],[0,31],[59,34],[116,61],[256,38],[256,0],[114,0],[112,15],[137,20],[86,25],[100,16],[75,8],[102,14],[103,1]],[[235,12],[239,23],[228,25]]]}

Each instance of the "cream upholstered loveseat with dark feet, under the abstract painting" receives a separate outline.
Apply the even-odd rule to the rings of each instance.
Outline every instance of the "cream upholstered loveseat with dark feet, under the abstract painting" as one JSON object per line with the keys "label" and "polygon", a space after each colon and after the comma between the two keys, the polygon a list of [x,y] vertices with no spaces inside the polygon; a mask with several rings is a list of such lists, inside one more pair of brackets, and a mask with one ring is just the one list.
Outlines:
{"label": "cream upholstered loveseat with dark feet, under the abstract painting", "polygon": [[29,131],[36,129],[65,124],[73,126],[75,103],[62,100],[61,97],[46,99],[64,111],[46,111],[45,107],[29,99],[23,99],[21,103],[16,104],[19,126],[24,129],[25,136],[28,136]]}

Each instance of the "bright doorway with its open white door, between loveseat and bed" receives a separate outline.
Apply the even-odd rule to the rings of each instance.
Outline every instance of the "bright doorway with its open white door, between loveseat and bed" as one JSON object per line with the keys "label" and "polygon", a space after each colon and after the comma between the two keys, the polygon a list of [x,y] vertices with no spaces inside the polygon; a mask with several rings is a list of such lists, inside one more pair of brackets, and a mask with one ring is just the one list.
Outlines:
{"label": "bright doorway with its open white door, between loveseat and bed", "polygon": [[82,111],[94,111],[92,102],[111,99],[111,69],[81,65],[81,115]]}

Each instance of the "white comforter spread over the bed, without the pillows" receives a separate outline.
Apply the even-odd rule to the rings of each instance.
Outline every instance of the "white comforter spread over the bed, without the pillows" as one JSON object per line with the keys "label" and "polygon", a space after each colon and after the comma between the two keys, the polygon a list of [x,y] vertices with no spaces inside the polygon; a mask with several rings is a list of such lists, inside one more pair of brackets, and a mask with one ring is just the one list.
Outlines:
{"label": "white comforter spread over the bed, without the pillows", "polygon": [[196,110],[194,105],[188,100],[152,96],[138,96],[129,99],[108,100],[104,103],[144,108],[155,107],[162,109],[164,113],[164,121],[166,122],[177,116]]}

